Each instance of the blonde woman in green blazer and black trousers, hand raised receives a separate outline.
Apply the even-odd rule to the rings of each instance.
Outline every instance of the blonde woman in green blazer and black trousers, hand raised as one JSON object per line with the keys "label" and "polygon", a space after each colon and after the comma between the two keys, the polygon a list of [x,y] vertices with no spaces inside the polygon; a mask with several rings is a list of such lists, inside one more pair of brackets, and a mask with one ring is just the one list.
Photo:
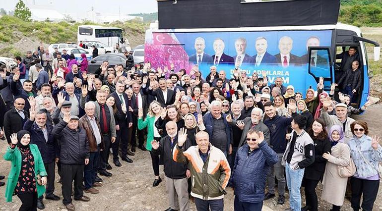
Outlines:
{"label": "blonde woman in green blazer and black trousers, hand raised", "polygon": [[155,127],[155,122],[160,118],[162,113],[162,107],[158,101],[153,101],[148,107],[148,113],[146,118],[143,120],[143,109],[140,107],[138,110],[138,129],[142,130],[147,127],[147,141],[146,149],[150,152],[152,168],[154,170],[155,180],[152,184],[153,187],[158,186],[162,182],[159,177],[159,156],[154,155],[151,152],[151,142],[153,140],[159,142],[161,135],[158,132],[158,128]]}

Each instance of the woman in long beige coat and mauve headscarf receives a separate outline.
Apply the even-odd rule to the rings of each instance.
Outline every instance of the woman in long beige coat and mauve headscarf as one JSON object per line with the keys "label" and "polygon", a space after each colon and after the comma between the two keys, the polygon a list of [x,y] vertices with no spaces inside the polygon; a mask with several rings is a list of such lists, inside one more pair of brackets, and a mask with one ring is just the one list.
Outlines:
{"label": "woman in long beige coat and mauve headscarf", "polygon": [[334,125],[329,131],[329,140],[332,145],[331,154],[324,153],[327,159],[325,173],[323,174],[323,189],[321,200],[333,205],[331,211],[339,211],[343,204],[348,178],[340,177],[338,166],[347,166],[350,162],[350,148],[344,142],[344,133],[341,126]]}

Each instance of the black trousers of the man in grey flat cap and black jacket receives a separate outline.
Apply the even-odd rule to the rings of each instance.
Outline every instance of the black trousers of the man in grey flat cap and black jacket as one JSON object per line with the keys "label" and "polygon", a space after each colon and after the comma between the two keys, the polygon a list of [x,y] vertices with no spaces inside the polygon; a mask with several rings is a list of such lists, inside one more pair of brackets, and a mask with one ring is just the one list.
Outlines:
{"label": "black trousers of the man in grey flat cap and black jacket", "polygon": [[61,163],[61,175],[63,179],[63,204],[71,203],[71,185],[74,180],[74,199],[79,199],[83,196],[83,164],[64,164]]}

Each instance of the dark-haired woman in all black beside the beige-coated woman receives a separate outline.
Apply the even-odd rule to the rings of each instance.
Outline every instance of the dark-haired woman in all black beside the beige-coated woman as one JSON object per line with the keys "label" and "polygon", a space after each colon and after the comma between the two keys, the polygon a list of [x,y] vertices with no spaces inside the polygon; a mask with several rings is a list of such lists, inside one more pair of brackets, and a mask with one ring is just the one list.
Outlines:
{"label": "dark-haired woman in all black beside the beige-coated woman", "polygon": [[315,119],[309,130],[309,135],[315,143],[315,162],[305,168],[304,186],[306,206],[301,211],[318,211],[318,201],[316,194],[316,187],[320,180],[322,180],[325,171],[326,159],[322,157],[324,153],[331,150],[331,144],[327,138],[325,130],[325,123],[321,119]]}

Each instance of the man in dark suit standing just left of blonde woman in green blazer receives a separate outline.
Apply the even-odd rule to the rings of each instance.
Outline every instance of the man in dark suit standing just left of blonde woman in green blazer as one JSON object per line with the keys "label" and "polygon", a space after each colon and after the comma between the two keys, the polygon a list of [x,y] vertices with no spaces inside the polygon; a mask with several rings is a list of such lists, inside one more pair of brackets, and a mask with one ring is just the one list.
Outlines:
{"label": "man in dark suit standing just left of blonde woman in green blazer", "polygon": [[140,84],[137,82],[134,82],[132,85],[132,91],[133,95],[131,97],[131,103],[135,104],[135,107],[133,108],[133,126],[132,126],[132,135],[131,135],[131,152],[135,152],[135,146],[136,146],[136,140],[135,140],[135,134],[138,133],[138,148],[142,151],[146,151],[146,148],[143,146],[144,140],[144,130],[138,129],[138,109],[143,108],[143,120],[146,118],[148,105],[147,105],[147,99],[146,95],[143,94],[143,92],[140,90]]}

